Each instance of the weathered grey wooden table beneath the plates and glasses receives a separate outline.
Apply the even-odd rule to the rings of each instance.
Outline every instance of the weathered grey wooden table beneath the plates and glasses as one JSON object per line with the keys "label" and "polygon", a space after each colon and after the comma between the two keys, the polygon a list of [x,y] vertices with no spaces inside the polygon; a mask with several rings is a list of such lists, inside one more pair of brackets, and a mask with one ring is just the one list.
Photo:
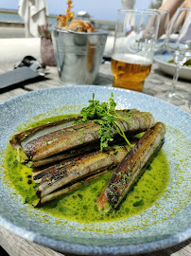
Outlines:
{"label": "weathered grey wooden table beneath the plates and glasses", "polygon": [[[1,63],[0,62],[0,74],[12,69],[14,63]],[[30,83],[23,82],[16,86],[10,87],[3,92],[0,92],[0,102],[11,99],[12,97],[24,93],[29,93],[33,90],[38,90],[47,87],[62,86],[59,82],[57,68],[48,67],[49,74],[46,76],[46,80],[33,81]],[[160,82],[163,81],[163,85]],[[145,83],[144,93],[148,93],[154,97],[163,97],[165,95],[164,87],[169,87],[172,78],[162,73],[155,64],[152,66],[150,75]],[[153,82],[158,82],[154,84]],[[111,64],[105,63],[100,67],[100,72],[97,80],[98,85],[112,86],[113,75],[111,71]],[[165,86],[164,86],[165,85]],[[179,81],[178,88],[182,88],[186,93],[190,91],[191,83],[188,81]],[[188,101],[183,101],[180,106],[182,110],[191,113],[188,108]],[[20,238],[6,229],[0,228],[0,246],[3,247],[10,256],[59,256],[63,255],[60,252],[54,251],[48,247],[43,247],[34,243],[30,243],[23,238]],[[191,255],[191,239],[183,242],[182,244],[174,247],[168,247],[166,249],[158,250],[148,254],[140,254],[145,256],[190,256]]]}

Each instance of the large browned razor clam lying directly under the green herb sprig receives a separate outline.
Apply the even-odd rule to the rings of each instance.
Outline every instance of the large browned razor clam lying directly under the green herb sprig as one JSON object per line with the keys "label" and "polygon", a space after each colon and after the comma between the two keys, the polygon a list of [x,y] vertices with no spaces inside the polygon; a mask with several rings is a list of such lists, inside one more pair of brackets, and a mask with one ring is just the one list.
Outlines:
{"label": "large browned razor clam lying directly under the green herb sprig", "polygon": [[[148,112],[138,110],[118,111],[118,114],[130,121],[117,119],[118,125],[124,132],[143,132],[154,125],[154,118]],[[50,155],[56,155],[63,151],[70,150],[86,143],[98,141],[99,125],[94,121],[87,121],[72,127],[66,127],[42,137],[28,141],[18,151],[20,161],[38,161]],[[113,131],[113,135],[117,132]]]}

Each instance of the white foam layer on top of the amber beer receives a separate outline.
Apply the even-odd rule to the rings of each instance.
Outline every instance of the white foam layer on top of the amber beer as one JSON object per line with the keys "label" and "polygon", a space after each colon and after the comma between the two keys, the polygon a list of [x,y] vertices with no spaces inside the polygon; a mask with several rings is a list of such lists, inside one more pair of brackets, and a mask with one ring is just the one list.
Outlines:
{"label": "white foam layer on top of the amber beer", "polygon": [[126,64],[141,64],[148,65],[152,64],[152,61],[148,57],[130,54],[130,53],[116,53],[113,54],[113,60],[123,62]]}

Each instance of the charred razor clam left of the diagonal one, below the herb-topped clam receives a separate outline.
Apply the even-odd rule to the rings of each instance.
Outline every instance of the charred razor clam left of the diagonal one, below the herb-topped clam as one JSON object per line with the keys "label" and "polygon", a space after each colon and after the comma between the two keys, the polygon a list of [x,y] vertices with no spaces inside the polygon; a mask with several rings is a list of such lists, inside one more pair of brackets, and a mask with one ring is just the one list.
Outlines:
{"label": "charred razor clam left of the diagonal one, below the herb-topped clam", "polygon": [[34,182],[40,183],[37,195],[42,198],[71,182],[116,166],[129,150],[128,145],[115,146],[108,152],[98,151],[78,156],[44,169],[41,173],[33,175]]}

